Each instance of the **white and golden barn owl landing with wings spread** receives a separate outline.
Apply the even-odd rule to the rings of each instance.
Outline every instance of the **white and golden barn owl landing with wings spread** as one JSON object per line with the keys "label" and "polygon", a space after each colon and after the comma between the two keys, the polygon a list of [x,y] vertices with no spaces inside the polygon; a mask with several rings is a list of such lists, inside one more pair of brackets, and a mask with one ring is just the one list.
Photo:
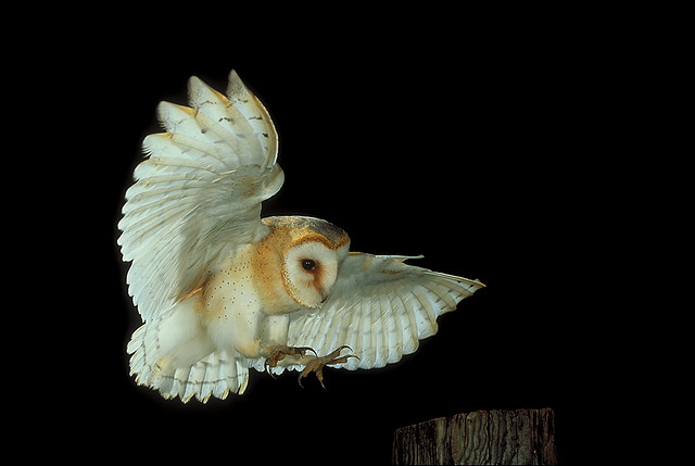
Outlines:
{"label": "white and golden barn owl landing with wings spread", "polygon": [[117,240],[142,317],[130,375],[164,398],[241,394],[249,370],[274,377],[382,367],[437,332],[439,315],[484,285],[405,264],[421,256],[350,251],[306,216],[261,218],[285,180],[268,112],[229,75],[226,95],[197,77],[189,106],[161,102],[165,133],[126,191]]}

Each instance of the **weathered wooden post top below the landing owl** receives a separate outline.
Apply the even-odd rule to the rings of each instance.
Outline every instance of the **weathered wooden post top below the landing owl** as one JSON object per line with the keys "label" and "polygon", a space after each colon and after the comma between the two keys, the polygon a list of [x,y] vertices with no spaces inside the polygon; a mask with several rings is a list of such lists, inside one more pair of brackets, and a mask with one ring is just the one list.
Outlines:
{"label": "weathered wooden post top below the landing owl", "polygon": [[394,434],[392,463],[554,465],[555,414],[476,411],[403,427]]}

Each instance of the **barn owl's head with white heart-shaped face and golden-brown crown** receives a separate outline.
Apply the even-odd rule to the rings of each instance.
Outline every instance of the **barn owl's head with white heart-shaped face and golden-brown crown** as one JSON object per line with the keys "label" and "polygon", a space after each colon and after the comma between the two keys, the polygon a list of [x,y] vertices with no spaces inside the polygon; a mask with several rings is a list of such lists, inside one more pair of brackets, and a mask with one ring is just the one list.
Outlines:
{"label": "barn owl's head with white heart-shaped face and golden-brown crown", "polygon": [[350,249],[350,237],[331,223],[313,217],[268,217],[282,241],[282,284],[299,304],[317,308],[328,299]]}

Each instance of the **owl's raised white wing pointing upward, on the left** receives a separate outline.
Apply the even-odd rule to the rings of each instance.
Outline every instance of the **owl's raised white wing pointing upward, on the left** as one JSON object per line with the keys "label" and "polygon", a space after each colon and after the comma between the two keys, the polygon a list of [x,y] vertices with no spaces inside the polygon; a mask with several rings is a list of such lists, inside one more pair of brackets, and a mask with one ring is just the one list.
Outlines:
{"label": "owl's raised white wing pointing upward, on the left", "polygon": [[188,90],[190,106],[160,103],[166,133],[144,138],[149,158],[118,223],[128,292],[146,322],[201,286],[223,252],[267,235],[261,203],[285,180],[270,116],[236,72],[227,96],[194,76]]}

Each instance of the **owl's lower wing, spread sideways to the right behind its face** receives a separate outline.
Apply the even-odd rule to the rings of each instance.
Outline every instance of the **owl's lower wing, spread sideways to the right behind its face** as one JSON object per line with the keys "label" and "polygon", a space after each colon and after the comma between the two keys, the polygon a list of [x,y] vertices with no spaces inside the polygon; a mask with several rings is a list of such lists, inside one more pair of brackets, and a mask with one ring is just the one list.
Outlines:
{"label": "owl's lower wing, spread sideways to the right behind its face", "polygon": [[351,357],[342,367],[382,367],[415,352],[419,340],[437,332],[438,316],[484,287],[406,265],[405,259],[410,257],[350,253],[324,306],[292,316],[288,344],[319,355],[346,344],[359,360]]}

